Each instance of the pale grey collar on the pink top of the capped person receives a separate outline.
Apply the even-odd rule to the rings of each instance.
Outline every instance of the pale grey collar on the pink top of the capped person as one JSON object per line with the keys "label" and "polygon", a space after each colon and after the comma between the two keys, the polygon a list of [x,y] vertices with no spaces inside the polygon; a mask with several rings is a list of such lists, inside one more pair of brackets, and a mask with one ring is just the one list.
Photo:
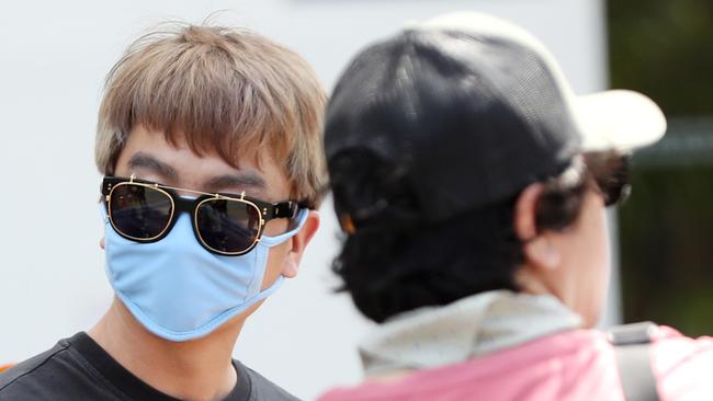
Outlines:
{"label": "pale grey collar on the pink top of the capped person", "polygon": [[557,298],[508,290],[400,313],[361,342],[366,376],[451,365],[581,325]]}

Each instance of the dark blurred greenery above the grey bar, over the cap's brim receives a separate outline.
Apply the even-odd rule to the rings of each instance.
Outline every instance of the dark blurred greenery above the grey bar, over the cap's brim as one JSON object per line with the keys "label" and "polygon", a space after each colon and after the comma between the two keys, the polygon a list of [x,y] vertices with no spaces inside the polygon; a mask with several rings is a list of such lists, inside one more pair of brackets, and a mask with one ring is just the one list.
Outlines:
{"label": "dark blurred greenery above the grey bar, over the cap's brim", "polygon": [[609,0],[608,20],[612,88],[669,116],[713,114],[713,1]]}

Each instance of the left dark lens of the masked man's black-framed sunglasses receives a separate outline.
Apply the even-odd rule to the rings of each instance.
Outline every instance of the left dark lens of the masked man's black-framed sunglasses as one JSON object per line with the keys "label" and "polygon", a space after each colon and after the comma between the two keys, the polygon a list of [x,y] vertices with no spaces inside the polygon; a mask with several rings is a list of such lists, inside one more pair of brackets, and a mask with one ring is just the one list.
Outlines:
{"label": "left dark lens of the masked man's black-framed sunglasses", "polygon": [[137,241],[152,240],[163,233],[172,211],[173,204],[167,194],[131,183],[114,186],[109,203],[114,228]]}

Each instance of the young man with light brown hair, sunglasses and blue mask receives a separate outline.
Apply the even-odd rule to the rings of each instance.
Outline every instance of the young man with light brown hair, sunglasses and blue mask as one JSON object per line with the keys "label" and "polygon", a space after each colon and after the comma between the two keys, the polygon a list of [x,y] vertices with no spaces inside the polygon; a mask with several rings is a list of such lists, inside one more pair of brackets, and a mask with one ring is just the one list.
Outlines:
{"label": "young man with light brown hair, sunglasses and blue mask", "polygon": [[132,44],[95,147],[114,302],[0,375],[0,400],[294,400],[231,352],[319,226],[324,103],[307,64],[252,32]]}

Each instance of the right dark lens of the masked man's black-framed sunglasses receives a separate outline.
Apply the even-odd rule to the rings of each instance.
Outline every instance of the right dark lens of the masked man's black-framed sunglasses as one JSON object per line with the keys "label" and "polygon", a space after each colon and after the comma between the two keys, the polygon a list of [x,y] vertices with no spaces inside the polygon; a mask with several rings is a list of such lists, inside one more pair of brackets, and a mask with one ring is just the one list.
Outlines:
{"label": "right dark lens of the masked man's black-framed sunglasses", "polygon": [[195,225],[208,248],[228,254],[250,249],[260,233],[260,210],[231,199],[208,199],[195,211]]}

